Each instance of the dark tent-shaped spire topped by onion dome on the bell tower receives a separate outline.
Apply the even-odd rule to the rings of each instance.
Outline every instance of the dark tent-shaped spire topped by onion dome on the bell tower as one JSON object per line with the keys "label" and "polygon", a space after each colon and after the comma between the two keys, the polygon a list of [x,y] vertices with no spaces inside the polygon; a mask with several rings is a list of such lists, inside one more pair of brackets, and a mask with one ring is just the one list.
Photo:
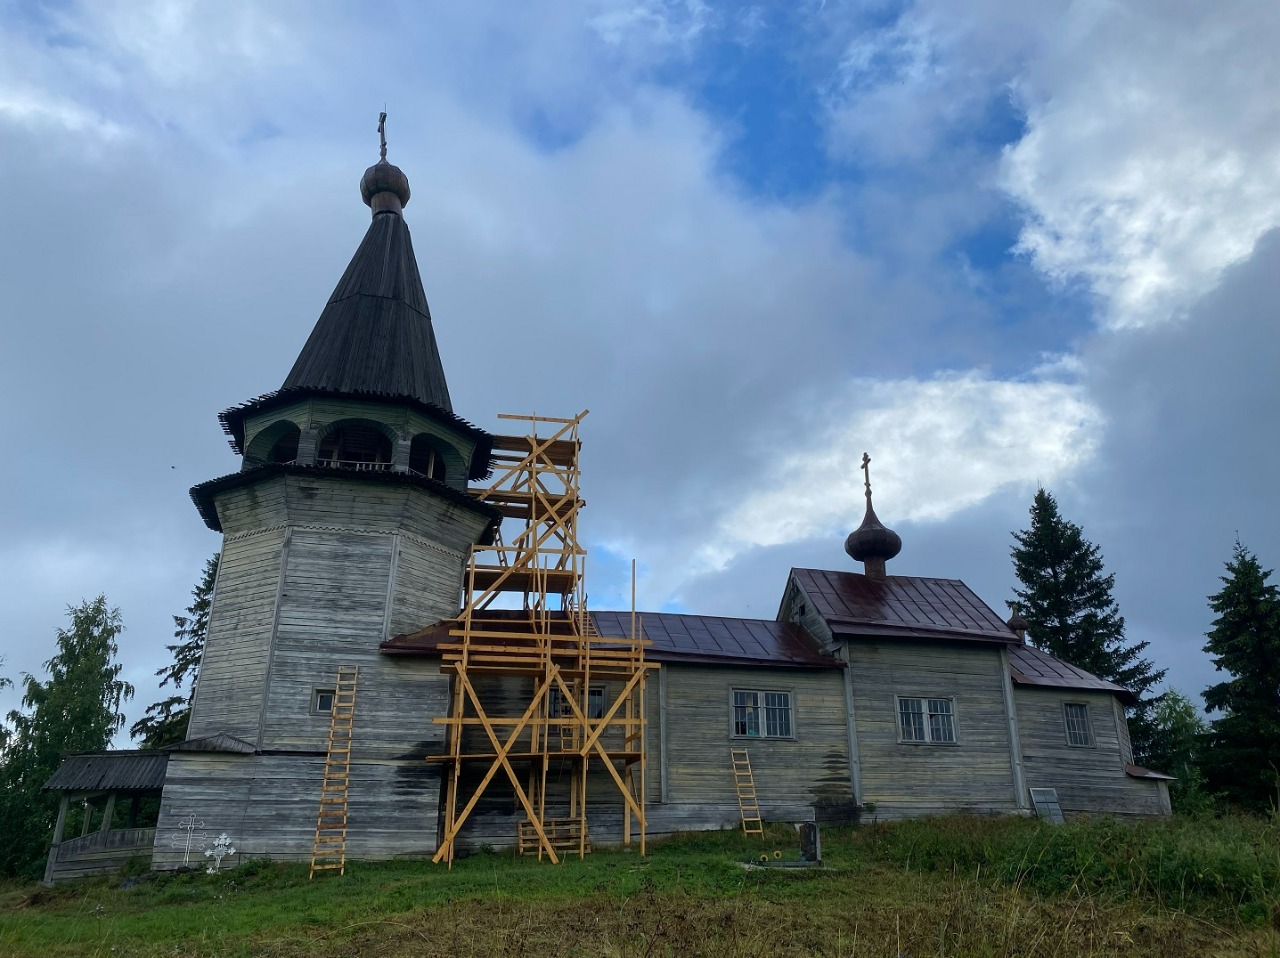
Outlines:
{"label": "dark tent-shaped spire topped by onion dome on the bell tower", "polygon": [[401,215],[408,179],[383,159],[365,172],[361,195],[374,222],[282,388],[412,398],[452,412],[413,242]]}

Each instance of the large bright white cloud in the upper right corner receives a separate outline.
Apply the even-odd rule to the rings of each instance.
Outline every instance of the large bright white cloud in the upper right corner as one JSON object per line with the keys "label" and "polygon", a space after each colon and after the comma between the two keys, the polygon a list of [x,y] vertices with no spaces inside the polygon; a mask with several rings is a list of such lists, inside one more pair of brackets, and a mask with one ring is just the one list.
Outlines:
{"label": "large bright white cloud in the upper right corner", "polygon": [[1016,83],[1019,248],[1108,325],[1183,313],[1280,224],[1280,8],[1073,6]]}

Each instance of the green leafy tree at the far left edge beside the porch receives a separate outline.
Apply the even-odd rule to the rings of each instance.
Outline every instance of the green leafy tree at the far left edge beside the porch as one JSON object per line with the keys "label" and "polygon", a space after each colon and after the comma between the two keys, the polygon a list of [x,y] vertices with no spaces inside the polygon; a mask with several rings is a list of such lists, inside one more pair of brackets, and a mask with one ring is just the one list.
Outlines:
{"label": "green leafy tree at the far left edge beside the porch", "polygon": [[0,872],[37,873],[49,848],[58,799],[44,792],[63,756],[106,748],[124,725],[133,686],[120,679],[120,611],[106,598],[68,608],[45,681],[22,678],[23,711],[9,712],[0,762]]}

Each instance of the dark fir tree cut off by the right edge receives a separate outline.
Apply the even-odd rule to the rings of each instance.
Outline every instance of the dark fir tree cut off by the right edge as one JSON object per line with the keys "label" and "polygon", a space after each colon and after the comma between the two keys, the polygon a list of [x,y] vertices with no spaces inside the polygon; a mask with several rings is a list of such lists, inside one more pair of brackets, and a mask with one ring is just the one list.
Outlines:
{"label": "dark fir tree cut off by the right edge", "polygon": [[1280,589],[1239,539],[1222,588],[1210,596],[1204,651],[1231,678],[1204,690],[1208,784],[1245,808],[1280,809]]}

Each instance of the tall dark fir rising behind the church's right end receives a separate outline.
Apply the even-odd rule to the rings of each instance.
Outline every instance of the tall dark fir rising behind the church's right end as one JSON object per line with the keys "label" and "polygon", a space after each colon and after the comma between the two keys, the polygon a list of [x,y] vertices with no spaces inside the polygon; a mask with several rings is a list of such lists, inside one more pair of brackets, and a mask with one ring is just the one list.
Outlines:
{"label": "tall dark fir rising behind the church's right end", "polygon": [[1014,571],[1021,588],[1009,602],[1027,620],[1032,644],[1050,654],[1124,685],[1138,698],[1130,710],[1134,761],[1151,761],[1156,736],[1153,689],[1165,678],[1142,653],[1149,643],[1126,643],[1124,616],[1111,594],[1115,575],[1103,570],[1101,549],[1080,526],[1057,511],[1044,489],[1032,502],[1029,529],[1014,533]]}

